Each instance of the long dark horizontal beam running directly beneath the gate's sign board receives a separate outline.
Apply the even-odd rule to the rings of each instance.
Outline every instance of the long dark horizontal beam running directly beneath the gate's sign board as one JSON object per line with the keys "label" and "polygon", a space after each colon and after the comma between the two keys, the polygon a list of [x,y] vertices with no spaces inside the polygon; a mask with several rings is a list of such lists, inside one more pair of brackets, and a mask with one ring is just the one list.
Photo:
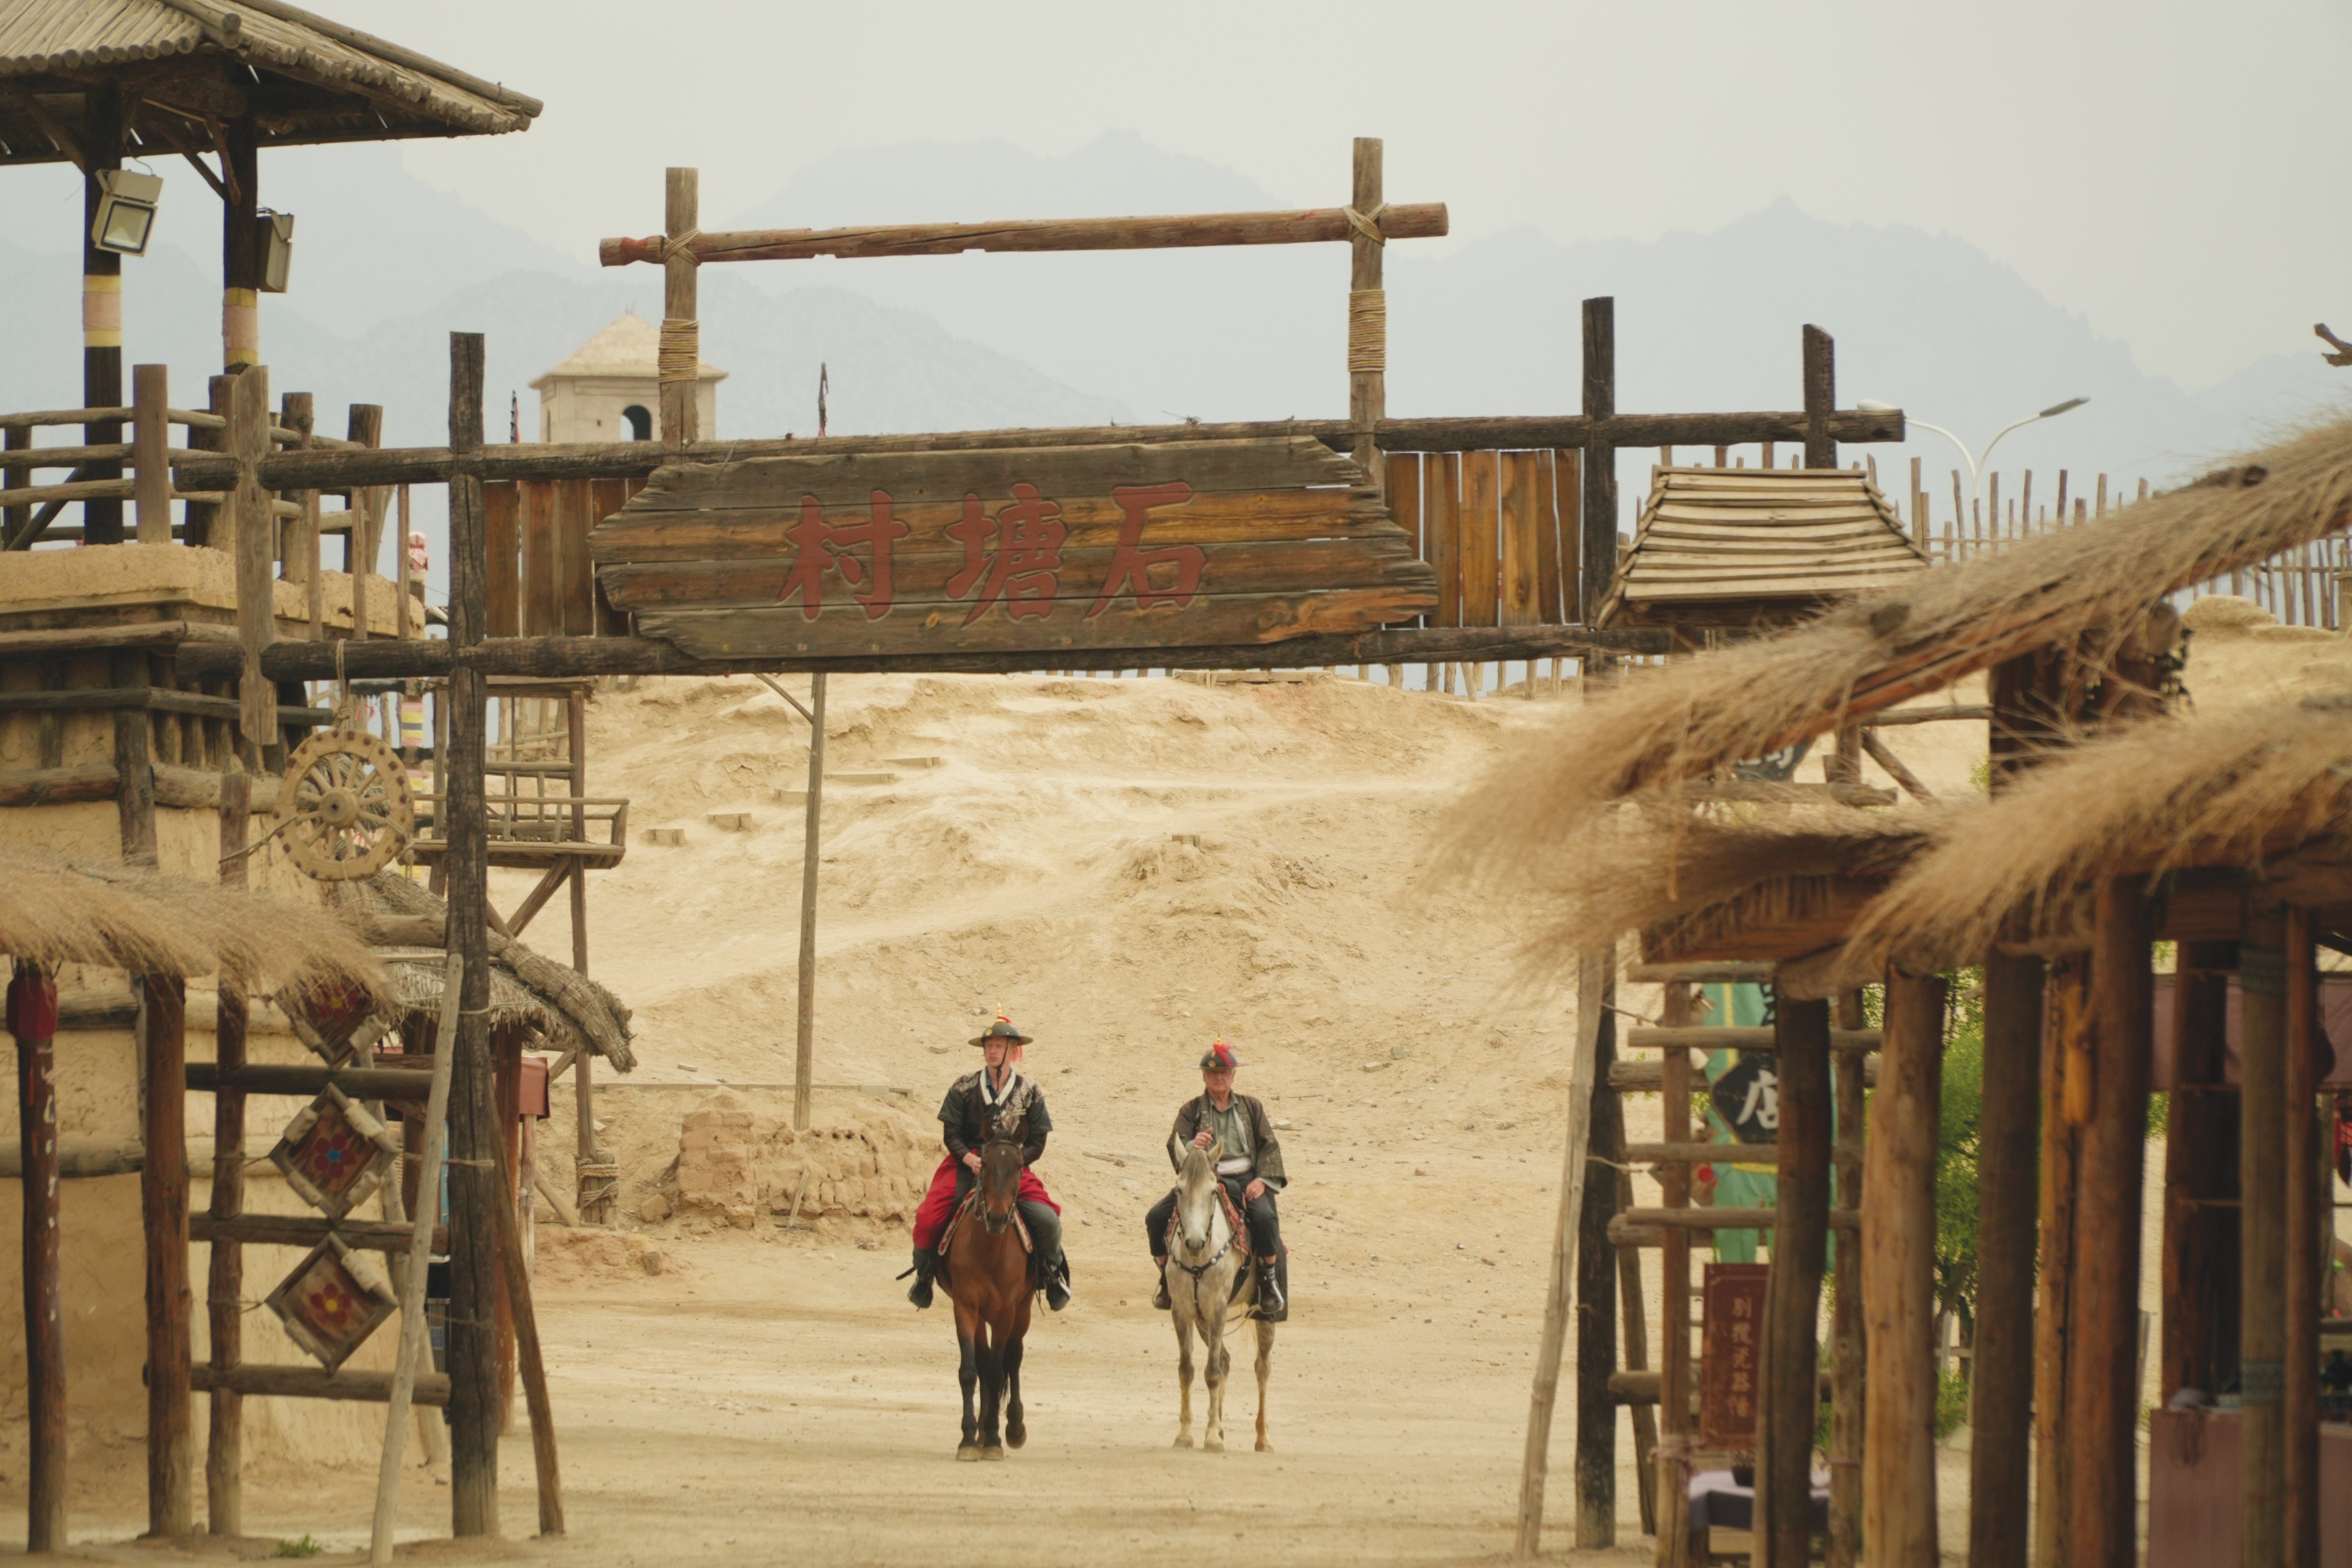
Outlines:
{"label": "long dark horizontal beam running directly beneath the gate's sign board", "polygon": [[[353,679],[442,677],[456,651],[442,639],[369,637],[367,642],[273,642],[261,649],[270,679],[334,679],[334,649]],[[1289,637],[1214,649],[1021,649],[1009,654],[898,654],[870,658],[689,658],[654,637],[487,637],[466,663],[487,675],[1021,675],[1030,670],[1303,670],[1319,665],[1404,665],[1578,654],[1663,654],[1665,632],[1583,625],[1399,628],[1331,637]],[[181,644],[181,679],[235,675],[238,651]]]}

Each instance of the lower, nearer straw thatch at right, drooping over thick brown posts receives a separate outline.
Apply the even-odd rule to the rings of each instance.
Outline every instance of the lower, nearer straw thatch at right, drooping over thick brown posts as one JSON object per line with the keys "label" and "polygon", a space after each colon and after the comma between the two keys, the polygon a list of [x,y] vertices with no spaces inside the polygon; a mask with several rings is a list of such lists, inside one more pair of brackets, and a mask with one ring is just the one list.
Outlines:
{"label": "lower, nearer straw thatch at right, drooping over thick brown posts", "polygon": [[1973,964],[2011,910],[2032,936],[2077,931],[2107,877],[2352,849],[2352,703],[2145,719],[1947,813],[1936,839],[1856,924],[1839,980]]}

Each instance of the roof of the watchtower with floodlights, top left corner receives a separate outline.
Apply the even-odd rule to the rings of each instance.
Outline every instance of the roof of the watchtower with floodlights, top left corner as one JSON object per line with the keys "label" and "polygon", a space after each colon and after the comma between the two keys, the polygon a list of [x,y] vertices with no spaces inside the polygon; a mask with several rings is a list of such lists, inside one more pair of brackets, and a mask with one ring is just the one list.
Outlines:
{"label": "roof of the watchtower with floodlights, top left corner", "polygon": [[[247,71],[223,71],[223,66]],[[87,82],[125,92],[129,150],[212,150],[252,115],[261,146],[520,132],[539,99],[285,0],[0,0],[0,162],[66,162]]]}

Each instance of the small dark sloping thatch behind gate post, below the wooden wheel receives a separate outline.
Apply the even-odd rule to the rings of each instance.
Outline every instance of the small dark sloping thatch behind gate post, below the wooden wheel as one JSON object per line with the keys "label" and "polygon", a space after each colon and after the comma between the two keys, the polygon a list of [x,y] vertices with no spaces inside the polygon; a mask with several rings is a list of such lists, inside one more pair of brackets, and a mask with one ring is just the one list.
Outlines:
{"label": "small dark sloping thatch behind gate post, below the wooden wheel", "polygon": [[[372,917],[421,917],[435,931],[447,926],[449,905],[423,884],[400,872],[376,872],[367,882],[346,882],[343,914],[358,926]],[[529,1023],[562,1051],[593,1051],[621,1072],[637,1067],[630,1051],[628,1009],[609,990],[567,964],[555,964],[522,943],[492,936],[489,1016],[494,1023]],[[440,1016],[442,950],[383,947],[397,1011],[421,1018]]]}

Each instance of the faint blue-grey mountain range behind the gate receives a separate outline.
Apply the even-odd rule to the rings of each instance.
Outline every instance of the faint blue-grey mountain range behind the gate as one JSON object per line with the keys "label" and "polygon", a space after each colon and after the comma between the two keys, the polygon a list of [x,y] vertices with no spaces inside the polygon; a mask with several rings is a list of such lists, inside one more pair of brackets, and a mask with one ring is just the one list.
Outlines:
{"label": "faint blue-grey mountain range behind the gate", "polygon": [[[219,355],[216,205],[186,169],[160,172],[169,179],[160,240],[125,268],[125,329],[129,357],[172,364],[174,397],[191,404]],[[24,195],[56,200],[21,202],[0,240],[0,287],[24,301],[0,350],[0,407],[73,404],[73,179],[59,169],[9,179]],[[266,202],[299,214],[294,292],[263,306],[263,355],[278,390],[318,395],[327,428],[341,425],[343,404],[367,400],[386,404],[388,440],[440,442],[447,334],[475,329],[489,334],[489,437],[501,440],[508,397],[532,376],[623,308],[647,317],[661,308],[656,268],[600,270],[548,249],[409,176],[393,148],[270,155],[263,181]],[[706,223],[1282,205],[1230,169],[1105,134],[1061,158],[1004,141],[840,153]],[[616,202],[614,233],[630,230],[635,212]],[[40,230],[24,221],[40,214],[49,214]],[[814,430],[821,362],[837,433],[1336,416],[1343,292],[1341,247],[743,263],[703,275],[703,357],[729,371],[717,435]],[[1797,407],[1804,322],[1837,336],[1839,402],[1896,402],[1969,442],[2060,397],[2091,397],[2009,437],[1997,454],[2009,470],[2169,482],[2340,407],[2352,390],[2352,374],[2279,346],[2192,395],[2143,374],[2124,343],[1962,240],[1825,223],[1785,200],[1715,233],[1642,242],[1559,244],[1531,228],[1399,242],[1388,292],[1399,416],[1573,411],[1588,294],[1618,301],[1625,411]],[[536,428],[536,402],[520,402],[522,428]],[[1886,489],[1898,489],[1891,468],[1917,451],[1943,498],[1959,458],[1915,435],[1910,447],[1875,449]],[[1625,454],[1628,515],[1653,456]],[[437,505],[428,517],[437,522]]]}

